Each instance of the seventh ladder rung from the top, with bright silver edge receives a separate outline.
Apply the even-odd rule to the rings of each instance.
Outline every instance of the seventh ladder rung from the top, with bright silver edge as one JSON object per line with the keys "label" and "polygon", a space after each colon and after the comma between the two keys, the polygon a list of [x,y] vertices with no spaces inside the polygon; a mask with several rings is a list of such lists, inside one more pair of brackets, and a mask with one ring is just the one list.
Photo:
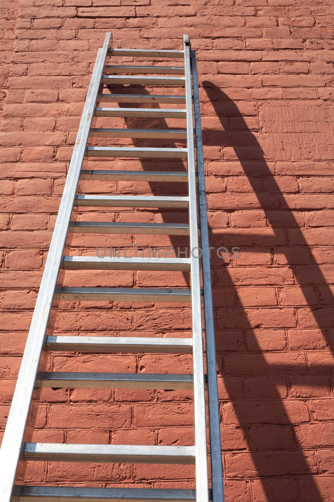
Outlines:
{"label": "seventh ladder rung from the top, with bright silver edge", "polygon": [[86,157],[186,159],[186,148],[87,147]]}

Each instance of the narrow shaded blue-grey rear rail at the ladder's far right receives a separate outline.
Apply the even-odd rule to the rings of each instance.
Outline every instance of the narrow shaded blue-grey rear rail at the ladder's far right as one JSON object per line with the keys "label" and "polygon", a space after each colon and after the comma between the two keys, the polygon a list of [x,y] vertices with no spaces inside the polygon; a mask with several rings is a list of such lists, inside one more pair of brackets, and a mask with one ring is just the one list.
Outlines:
{"label": "narrow shaded blue-grey rear rail at the ladder's far right", "polygon": [[204,322],[205,322],[207,385],[208,385],[209,425],[210,425],[212,501],[223,502],[224,491],[223,491],[223,469],[222,469],[221,442],[220,442],[220,416],[219,416],[219,403],[218,403],[217,363],[216,363],[216,347],[214,338],[209,230],[208,230],[207,207],[206,207],[202,126],[201,126],[201,115],[200,115],[200,104],[199,104],[200,101],[198,92],[196,51],[191,51],[191,69],[192,69],[192,83],[193,83],[193,94],[194,94],[199,216],[200,216],[201,244],[202,244],[202,274],[203,274]]}

